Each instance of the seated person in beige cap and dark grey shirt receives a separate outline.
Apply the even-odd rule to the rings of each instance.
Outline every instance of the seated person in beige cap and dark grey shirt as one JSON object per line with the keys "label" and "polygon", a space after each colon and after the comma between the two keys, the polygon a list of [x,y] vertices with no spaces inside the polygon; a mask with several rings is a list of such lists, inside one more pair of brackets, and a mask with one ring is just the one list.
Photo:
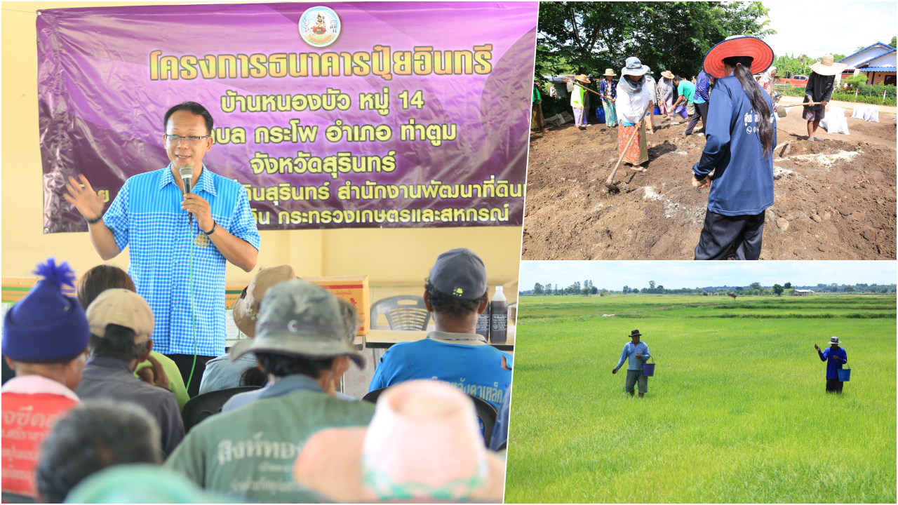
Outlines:
{"label": "seated person in beige cap and dark grey shirt", "polygon": [[75,390],[83,399],[132,402],[144,407],[159,425],[162,449],[172,454],[184,438],[178,401],[168,389],[134,377],[134,369],[153,350],[153,311],[134,291],[103,291],[87,307],[91,324],[91,359]]}

